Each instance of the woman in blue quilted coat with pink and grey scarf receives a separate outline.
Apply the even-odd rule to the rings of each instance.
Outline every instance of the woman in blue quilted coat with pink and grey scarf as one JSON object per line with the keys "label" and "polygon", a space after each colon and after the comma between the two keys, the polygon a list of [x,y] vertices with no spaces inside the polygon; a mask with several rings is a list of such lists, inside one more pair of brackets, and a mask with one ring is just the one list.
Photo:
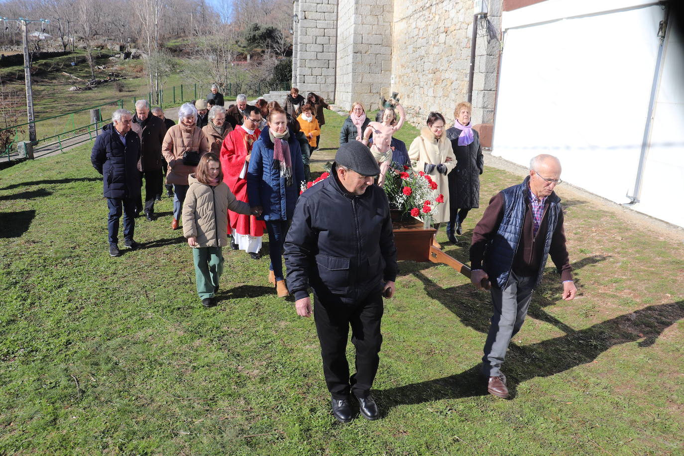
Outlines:
{"label": "woman in blue quilted coat with pink and grey scarf", "polygon": [[268,280],[278,297],[289,295],[282,273],[282,245],[304,182],[304,163],[298,139],[287,128],[287,114],[274,108],[268,126],[254,143],[247,172],[247,193],[252,208],[263,210],[271,257]]}

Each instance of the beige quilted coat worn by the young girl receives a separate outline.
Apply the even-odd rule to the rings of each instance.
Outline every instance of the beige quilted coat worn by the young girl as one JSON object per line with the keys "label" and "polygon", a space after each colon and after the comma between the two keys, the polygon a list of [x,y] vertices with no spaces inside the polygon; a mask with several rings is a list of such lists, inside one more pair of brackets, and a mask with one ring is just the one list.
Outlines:
{"label": "beige quilted coat worn by the young girl", "polygon": [[187,180],[190,187],[183,203],[183,236],[196,237],[198,247],[228,245],[228,209],[250,215],[250,205],[237,200],[223,181],[211,187],[198,182],[194,174]]}

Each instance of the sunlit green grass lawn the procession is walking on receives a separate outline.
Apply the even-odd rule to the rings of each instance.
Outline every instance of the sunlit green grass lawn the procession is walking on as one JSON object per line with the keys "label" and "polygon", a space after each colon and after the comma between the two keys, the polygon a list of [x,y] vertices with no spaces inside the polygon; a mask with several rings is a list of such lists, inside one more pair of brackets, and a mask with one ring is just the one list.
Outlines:
{"label": "sunlit green grass lawn the procession is walking on", "polygon": [[[326,114],[315,171],[343,121]],[[313,321],[276,297],[267,257],[224,250],[220,304],[202,308],[169,198],[136,220],[141,250],[109,257],[90,147],[0,170],[0,454],[684,452],[681,242],[560,187],[579,297],[560,300],[548,268],[505,364],[510,401],[477,377],[488,295],[444,265],[400,263],[373,390],[383,418],[342,425]],[[520,180],[481,177],[483,207],[444,244],[462,261],[490,196]]]}

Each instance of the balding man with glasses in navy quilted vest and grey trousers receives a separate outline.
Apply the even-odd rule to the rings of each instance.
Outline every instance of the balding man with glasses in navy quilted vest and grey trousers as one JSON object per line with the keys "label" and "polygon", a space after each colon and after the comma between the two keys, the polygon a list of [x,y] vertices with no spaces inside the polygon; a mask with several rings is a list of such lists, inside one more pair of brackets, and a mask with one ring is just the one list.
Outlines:
{"label": "balding man with glasses in navy quilted vest and grey trousers", "polygon": [[482,375],[490,394],[504,399],[508,387],[501,364],[511,338],[525,321],[549,254],[560,273],[563,299],[570,301],[577,293],[565,246],[563,210],[553,191],[560,172],[556,157],[534,157],[529,176],[497,193],[473,231],[471,281],[478,289],[490,286],[494,307]]}

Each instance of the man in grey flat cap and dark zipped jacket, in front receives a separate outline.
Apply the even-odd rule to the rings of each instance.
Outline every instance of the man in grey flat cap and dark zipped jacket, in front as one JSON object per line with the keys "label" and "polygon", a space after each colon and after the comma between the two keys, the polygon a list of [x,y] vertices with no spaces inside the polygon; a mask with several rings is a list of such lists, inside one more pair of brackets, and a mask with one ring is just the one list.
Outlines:
{"label": "man in grey flat cap and dark zipped jacket, in front", "polygon": [[[387,197],[373,185],[378,174],[366,146],[342,144],[331,175],[300,196],[285,239],[287,287],[302,317],[311,316],[313,288],[332,413],[343,423],[353,418],[350,392],[365,418],[380,416],[370,389],[380,361],[382,296],[395,290],[397,250]],[[356,347],[351,377],[345,355],[350,325]]]}

